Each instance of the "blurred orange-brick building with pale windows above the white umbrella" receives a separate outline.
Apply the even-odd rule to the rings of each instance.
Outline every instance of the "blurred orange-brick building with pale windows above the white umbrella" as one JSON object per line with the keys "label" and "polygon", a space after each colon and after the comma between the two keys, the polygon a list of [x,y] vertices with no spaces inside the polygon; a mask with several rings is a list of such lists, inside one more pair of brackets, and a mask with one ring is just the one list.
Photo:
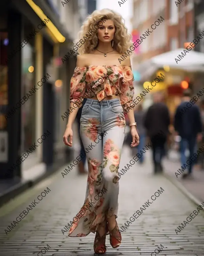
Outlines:
{"label": "blurred orange-brick building with pale windows above the white umbrella", "polygon": [[[135,62],[148,60],[156,55],[183,48],[184,43],[194,37],[194,9],[193,0],[181,3],[173,0],[134,0],[133,30],[139,35],[150,28],[152,32],[138,46]],[[156,23],[158,18],[164,22]],[[153,25],[154,29],[151,29]],[[155,28],[156,26],[156,28]]]}

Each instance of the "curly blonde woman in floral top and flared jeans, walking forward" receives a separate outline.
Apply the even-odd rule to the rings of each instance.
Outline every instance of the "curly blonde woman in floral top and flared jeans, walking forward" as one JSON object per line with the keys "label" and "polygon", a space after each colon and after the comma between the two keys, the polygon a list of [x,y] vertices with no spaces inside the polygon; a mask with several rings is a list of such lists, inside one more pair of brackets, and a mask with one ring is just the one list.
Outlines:
{"label": "curly blonde woman in floral top and flared jeans, walking forward", "polygon": [[[104,16],[105,21],[100,22]],[[89,37],[88,31],[95,33],[89,33]],[[121,60],[122,65],[118,60],[129,49],[131,35],[127,33],[119,14],[103,9],[88,16],[80,31],[80,38],[84,38],[85,42],[78,49],[77,67],[71,78],[70,108],[73,111],[63,138],[66,145],[72,146],[71,127],[81,102],[87,98],[82,109],[80,134],[84,148],[95,144],[92,150],[86,152],[88,179],[84,205],[91,203],[92,207],[87,210],[83,205],[76,215],[77,221],[69,230],[69,236],[81,237],[96,232],[94,251],[103,254],[106,252],[107,234],[110,234],[113,248],[121,243],[116,222],[120,179],[118,168],[126,125],[121,114],[127,108],[133,138],[131,146],[139,144],[134,113],[130,108],[131,103],[134,104],[130,58]],[[78,107],[75,108],[77,103]],[[99,141],[98,134],[101,133],[106,135]],[[103,188],[106,193],[96,201]]]}

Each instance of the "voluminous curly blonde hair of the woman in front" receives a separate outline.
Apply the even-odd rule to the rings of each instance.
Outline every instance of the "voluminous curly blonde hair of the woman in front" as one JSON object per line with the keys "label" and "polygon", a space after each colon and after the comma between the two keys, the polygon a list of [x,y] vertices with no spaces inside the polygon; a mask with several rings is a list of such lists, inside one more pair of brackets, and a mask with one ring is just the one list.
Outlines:
{"label": "voluminous curly blonde hair of the woman in front", "polygon": [[[96,31],[95,25],[97,25],[99,21],[104,19],[113,20],[116,28],[116,32],[114,35],[113,48],[118,53],[123,54],[133,44],[131,40],[132,36],[131,34],[128,33],[128,29],[124,25],[124,22],[123,22],[124,19],[122,18],[122,16],[119,13],[114,12],[110,9],[102,9],[100,11],[96,10],[92,14],[90,14],[84,21],[81,27],[81,30],[78,33],[79,39],[83,39],[84,36],[87,37],[87,35],[89,35],[88,32],[91,29],[92,31]],[[74,45],[72,46],[72,48],[75,46],[77,42],[79,42],[79,39],[74,40]],[[85,40],[85,43],[82,44],[80,48],[78,47],[78,50],[75,52],[78,55],[91,53],[97,46],[98,46],[98,36],[96,31],[96,33],[92,34],[87,40]]]}

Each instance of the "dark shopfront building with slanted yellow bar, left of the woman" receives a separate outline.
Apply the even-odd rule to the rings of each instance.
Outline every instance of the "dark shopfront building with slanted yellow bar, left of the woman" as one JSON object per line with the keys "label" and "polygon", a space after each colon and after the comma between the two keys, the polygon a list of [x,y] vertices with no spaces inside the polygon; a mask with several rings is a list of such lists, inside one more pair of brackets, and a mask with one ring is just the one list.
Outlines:
{"label": "dark shopfront building with slanted yellow bar, left of the woman", "polygon": [[81,26],[79,1],[0,3],[0,179],[16,183],[70,160],[63,143]]}

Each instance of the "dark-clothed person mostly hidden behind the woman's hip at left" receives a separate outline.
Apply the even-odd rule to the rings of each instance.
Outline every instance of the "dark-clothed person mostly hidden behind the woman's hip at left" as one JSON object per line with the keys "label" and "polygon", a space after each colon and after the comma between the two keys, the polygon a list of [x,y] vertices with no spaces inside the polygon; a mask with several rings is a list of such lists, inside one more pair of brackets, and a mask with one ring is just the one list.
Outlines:
{"label": "dark-clothed person mostly hidden behind the woman's hip at left", "polygon": [[[80,146],[81,146],[81,150],[80,150],[80,154],[84,154],[85,150],[84,150],[84,145],[82,143],[82,139],[81,139],[81,135],[80,135],[80,118],[82,115],[82,109],[83,106],[86,103],[86,99],[83,100],[82,102],[82,107],[79,109],[79,111],[77,112],[77,124],[78,124],[78,135],[79,135],[79,139],[80,139]],[[82,158],[82,160],[78,163],[78,174],[87,174],[88,172],[85,170],[85,163],[86,163],[86,156],[84,158]]]}

